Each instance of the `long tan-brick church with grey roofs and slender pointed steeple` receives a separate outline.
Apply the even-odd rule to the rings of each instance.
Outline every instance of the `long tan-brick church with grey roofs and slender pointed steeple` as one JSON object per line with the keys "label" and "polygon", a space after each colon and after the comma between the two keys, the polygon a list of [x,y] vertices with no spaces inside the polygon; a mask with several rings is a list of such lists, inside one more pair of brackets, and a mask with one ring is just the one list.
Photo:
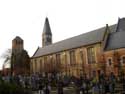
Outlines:
{"label": "long tan-brick church with grey roofs and slender pointed steeple", "polygon": [[116,76],[125,73],[125,18],[118,23],[68,38],[52,42],[52,32],[48,18],[42,33],[42,47],[38,47],[31,57],[30,72],[58,73],[89,77],[111,72]]}

